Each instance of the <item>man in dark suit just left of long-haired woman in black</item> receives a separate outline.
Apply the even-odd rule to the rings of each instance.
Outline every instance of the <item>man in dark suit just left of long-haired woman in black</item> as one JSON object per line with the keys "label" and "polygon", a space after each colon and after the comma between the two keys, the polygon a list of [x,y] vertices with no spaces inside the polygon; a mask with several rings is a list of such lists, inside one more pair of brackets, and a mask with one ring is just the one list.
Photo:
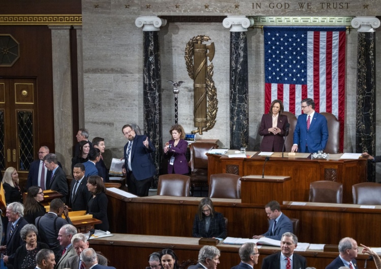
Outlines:
{"label": "man in dark suit just left of long-haired woman in black", "polygon": [[74,180],[70,184],[69,207],[73,211],[86,210],[87,202],[91,193],[87,189],[87,178],[85,177],[85,166],[77,163],[73,168]]}

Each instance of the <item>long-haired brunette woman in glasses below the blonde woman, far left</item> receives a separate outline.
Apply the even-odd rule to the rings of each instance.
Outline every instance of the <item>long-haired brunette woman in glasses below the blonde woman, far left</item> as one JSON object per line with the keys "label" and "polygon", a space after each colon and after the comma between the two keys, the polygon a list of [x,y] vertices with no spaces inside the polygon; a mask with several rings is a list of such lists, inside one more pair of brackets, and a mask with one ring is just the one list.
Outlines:
{"label": "long-haired brunette woman in glasses below the blonde woman, far left", "polygon": [[37,217],[45,215],[46,210],[41,201],[44,200],[44,193],[40,186],[31,186],[28,189],[24,202],[24,219],[30,223],[35,224]]}

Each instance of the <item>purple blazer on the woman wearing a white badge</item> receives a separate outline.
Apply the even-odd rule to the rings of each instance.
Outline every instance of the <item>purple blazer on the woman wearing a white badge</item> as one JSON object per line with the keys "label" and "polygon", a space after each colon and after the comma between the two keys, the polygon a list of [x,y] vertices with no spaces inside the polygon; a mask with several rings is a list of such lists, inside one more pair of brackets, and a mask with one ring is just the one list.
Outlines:
{"label": "purple blazer on the woman wearing a white badge", "polygon": [[[188,174],[189,173],[189,166],[188,162],[186,161],[185,153],[186,149],[188,147],[188,143],[180,139],[179,143],[174,146],[175,141],[170,140],[169,144],[171,145],[171,148],[167,153],[164,153],[164,157],[168,160],[168,174]],[[173,165],[170,164],[171,157],[175,157],[175,161]],[[173,173],[173,170],[175,173]]]}

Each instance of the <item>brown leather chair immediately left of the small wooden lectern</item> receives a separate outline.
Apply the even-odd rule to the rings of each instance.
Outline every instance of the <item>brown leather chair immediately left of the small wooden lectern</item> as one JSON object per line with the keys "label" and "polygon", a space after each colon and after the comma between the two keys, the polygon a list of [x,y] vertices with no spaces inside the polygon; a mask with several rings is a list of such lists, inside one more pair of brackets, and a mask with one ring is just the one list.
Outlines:
{"label": "brown leather chair immediately left of the small wooden lectern", "polygon": [[210,176],[209,198],[241,198],[241,177],[233,174],[215,174]]}

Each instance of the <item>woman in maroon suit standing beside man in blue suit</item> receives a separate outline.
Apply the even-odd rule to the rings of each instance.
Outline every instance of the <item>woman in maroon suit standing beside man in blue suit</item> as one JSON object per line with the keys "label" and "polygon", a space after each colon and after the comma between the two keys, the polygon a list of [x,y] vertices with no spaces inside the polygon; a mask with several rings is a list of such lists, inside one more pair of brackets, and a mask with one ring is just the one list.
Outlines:
{"label": "woman in maroon suit standing beside man in blue suit", "polygon": [[283,103],[281,100],[273,100],[269,113],[262,116],[258,131],[263,136],[261,151],[282,152],[287,123],[287,116],[283,115]]}

